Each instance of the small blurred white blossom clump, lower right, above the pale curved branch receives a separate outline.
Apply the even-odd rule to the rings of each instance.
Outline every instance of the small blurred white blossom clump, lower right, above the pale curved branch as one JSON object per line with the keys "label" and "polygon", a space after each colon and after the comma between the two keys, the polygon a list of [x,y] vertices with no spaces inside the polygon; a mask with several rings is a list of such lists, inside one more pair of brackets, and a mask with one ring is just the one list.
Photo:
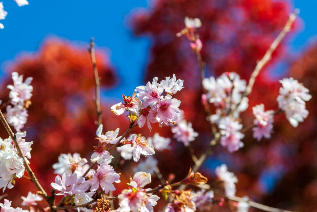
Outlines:
{"label": "small blurred white blossom clump, lower right, above the pale curved branch", "polygon": [[224,190],[227,197],[234,196],[236,194],[236,185],[238,182],[236,176],[228,171],[226,164],[222,164],[216,168],[216,175],[220,180],[224,182]]}

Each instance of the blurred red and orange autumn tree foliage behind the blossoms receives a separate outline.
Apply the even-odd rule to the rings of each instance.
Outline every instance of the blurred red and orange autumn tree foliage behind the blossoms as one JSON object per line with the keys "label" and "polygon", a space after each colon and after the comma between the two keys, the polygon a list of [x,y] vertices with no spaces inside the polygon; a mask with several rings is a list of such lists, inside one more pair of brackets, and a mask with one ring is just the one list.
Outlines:
{"label": "blurred red and orange autumn tree foliage behind the blossoms", "polygon": [[[204,109],[200,104],[200,73],[197,59],[185,37],[177,38],[175,34],[184,28],[184,17],[198,17],[203,26],[197,30],[203,42],[202,56],[206,62],[206,76],[219,76],[230,71],[239,73],[248,79],[269,45],[284,26],[288,5],[273,0],[212,1],[212,0],[157,0],[149,11],[140,11],[132,17],[134,31],[137,35],[147,34],[152,38],[150,60],[146,69],[146,81],[154,76],[159,80],[175,73],[184,79],[185,89],[175,98],[181,100],[180,108],[185,118],[193,124],[199,133],[192,142],[196,154],[200,155],[210,141],[212,134]],[[88,44],[87,44],[88,47]],[[273,54],[272,61],[283,54],[283,46]],[[105,55],[97,51],[97,66],[101,85],[111,86],[115,82],[115,73]],[[272,139],[256,142],[252,133],[246,133],[243,139],[245,147],[234,154],[229,154],[222,147],[215,150],[214,156],[207,159],[199,170],[210,181],[215,179],[213,170],[216,165],[226,162],[229,170],[234,172],[239,182],[237,195],[248,195],[250,199],[269,206],[297,211],[312,211],[316,208],[316,109],[317,88],[311,79],[316,77],[317,46],[309,50],[298,62],[294,63],[289,76],[310,89],[313,99],[307,103],[310,115],[298,128],[293,128],[283,115],[275,117]],[[33,140],[31,168],[38,176],[44,189],[49,191],[50,182],[54,181],[52,164],[57,162],[60,153],[81,153],[88,160],[93,151],[96,126],[94,103],[94,78],[90,56],[86,48],[78,49],[70,44],[51,40],[46,42],[38,53],[23,56],[8,72],[17,71],[24,77],[34,78],[32,106],[29,109],[27,141]],[[253,121],[252,106],[265,104],[265,109],[277,109],[276,97],[280,84],[278,79],[270,78],[268,69],[261,72],[256,79],[254,90],[250,95],[249,110],[242,114],[243,125]],[[10,77],[3,81],[2,91],[11,83]],[[269,92],[268,92],[269,91]],[[130,95],[133,91],[130,92]],[[7,92],[2,92],[5,99]],[[129,94],[126,94],[129,95]],[[110,105],[103,103],[104,130],[120,127],[123,134],[128,127],[126,118],[114,116]],[[152,133],[148,129],[134,129],[152,136],[155,132],[172,137],[168,127],[159,128],[153,124]],[[1,129],[1,137],[8,137]],[[305,133],[303,133],[305,132]],[[157,153],[159,168],[167,179],[170,173],[176,180],[187,176],[192,165],[191,157],[181,143],[172,141],[172,151]],[[115,156],[115,155],[114,155]],[[116,157],[115,157],[116,158]],[[220,162],[221,161],[221,162]],[[118,164],[113,160],[113,164]],[[126,188],[129,176],[133,176],[131,167],[134,162],[126,162],[118,172],[121,184],[114,195]],[[126,174],[124,174],[124,171]],[[160,182],[153,179],[150,186]],[[270,183],[274,185],[271,186]],[[271,189],[271,190],[270,190]],[[19,205],[20,196],[27,191],[36,191],[27,179],[16,181],[8,199]],[[41,203],[42,206],[46,204]],[[155,210],[162,209],[164,200],[159,201]],[[225,207],[213,207],[214,211]],[[227,209],[228,210],[228,209]]]}

